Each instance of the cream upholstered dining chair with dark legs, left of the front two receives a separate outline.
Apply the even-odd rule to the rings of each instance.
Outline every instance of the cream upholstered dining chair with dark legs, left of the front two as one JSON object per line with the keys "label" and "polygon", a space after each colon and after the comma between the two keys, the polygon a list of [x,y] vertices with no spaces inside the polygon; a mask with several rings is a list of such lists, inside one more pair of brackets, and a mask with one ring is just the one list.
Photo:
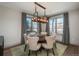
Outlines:
{"label": "cream upholstered dining chair with dark legs, left of the front two", "polygon": [[27,38],[28,38],[28,46],[29,46],[29,55],[30,55],[30,51],[34,51],[37,55],[37,51],[41,47],[41,44],[37,43],[39,37],[27,37]]}

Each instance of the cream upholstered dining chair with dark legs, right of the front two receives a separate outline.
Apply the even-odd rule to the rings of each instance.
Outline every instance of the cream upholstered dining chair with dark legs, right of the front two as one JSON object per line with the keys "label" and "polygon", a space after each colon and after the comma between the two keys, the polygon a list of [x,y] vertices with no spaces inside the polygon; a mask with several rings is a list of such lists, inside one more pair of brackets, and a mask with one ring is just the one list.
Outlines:
{"label": "cream upholstered dining chair with dark legs, right of the front two", "polygon": [[45,40],[47,41],[47,43],[42,43],[42,47],[47,50],[47,55],[48,55],[48,51],[51,49],[52,49],[53,54],[55,55],[54,49],[53,49],[55,40],[54,40],[53,36],[46,36]]}

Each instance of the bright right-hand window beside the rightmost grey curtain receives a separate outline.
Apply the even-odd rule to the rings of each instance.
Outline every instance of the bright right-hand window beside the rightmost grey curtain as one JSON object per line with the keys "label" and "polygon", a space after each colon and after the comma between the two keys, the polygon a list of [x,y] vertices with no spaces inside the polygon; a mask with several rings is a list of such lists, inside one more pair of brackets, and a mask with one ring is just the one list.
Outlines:
{"label": "bright right-hand window beside the rightmost grey curtain", "polygon": [[49,19],[50,34],[55,32],[57,34],[63,34],[63,15],[51,17]]}

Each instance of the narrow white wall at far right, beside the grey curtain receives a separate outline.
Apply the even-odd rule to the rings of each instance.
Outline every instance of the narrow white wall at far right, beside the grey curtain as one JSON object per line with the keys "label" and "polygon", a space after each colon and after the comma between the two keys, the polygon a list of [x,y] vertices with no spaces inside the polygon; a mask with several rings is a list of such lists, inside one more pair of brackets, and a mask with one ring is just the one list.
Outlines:
{"label": "narrow white wall at far right, beside the grey curtain", "polygon": [[79,45],[79,10],[69,12],[70,43]]}

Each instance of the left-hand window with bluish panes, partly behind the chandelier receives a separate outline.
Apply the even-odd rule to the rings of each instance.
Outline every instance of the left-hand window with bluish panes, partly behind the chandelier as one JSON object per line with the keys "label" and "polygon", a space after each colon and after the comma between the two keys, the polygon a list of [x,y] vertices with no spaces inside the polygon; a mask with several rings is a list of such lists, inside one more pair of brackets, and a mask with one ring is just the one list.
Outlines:
{"label": "left-hand window with bluish panes, partly behind the chandelier", "polygon": [[32,17],[26,17],[26,31],[36,31],[37,32],[37,22],[32,21]]}

